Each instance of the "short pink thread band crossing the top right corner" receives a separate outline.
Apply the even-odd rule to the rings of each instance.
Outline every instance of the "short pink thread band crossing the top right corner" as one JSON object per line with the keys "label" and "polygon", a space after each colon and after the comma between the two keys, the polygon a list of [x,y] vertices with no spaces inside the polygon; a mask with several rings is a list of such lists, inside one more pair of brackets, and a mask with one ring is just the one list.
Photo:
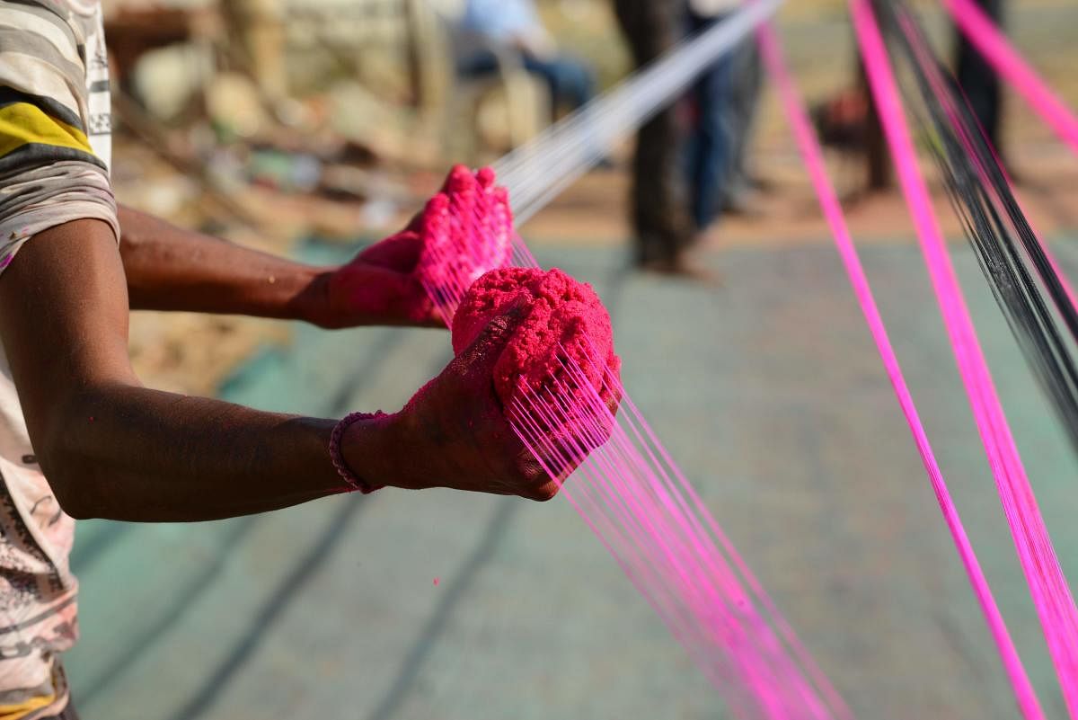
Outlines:
{"label": "short pink thread band crossing the top right corner", "polygon": [[1060,139],[1078,152],[1078,119],[1048,84],[1022,58],[972,0],[943,0],[955,25],[978,52],[1026,99]]}

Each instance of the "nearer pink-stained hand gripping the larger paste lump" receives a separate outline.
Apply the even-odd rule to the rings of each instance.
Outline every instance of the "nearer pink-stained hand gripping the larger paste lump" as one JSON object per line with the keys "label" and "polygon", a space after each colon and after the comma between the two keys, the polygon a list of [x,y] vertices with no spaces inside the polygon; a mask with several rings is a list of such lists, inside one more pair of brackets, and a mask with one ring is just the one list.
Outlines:
{"label": "nearer pink-stained hand gripping the larger paste lump", "polygon": [[[377,446],[390,447],[372,484],[410,489],[452,487],[549,500],[575,467],[557,480],[516,437],[494,389],[493,368],[521,320],[514,307],[494,318],[400,413],[349,426],[342,443],[345,461],[370,466]],[[374,426],[374,427],[372,427]],[[371,432],[375,430],[375,432]]]}

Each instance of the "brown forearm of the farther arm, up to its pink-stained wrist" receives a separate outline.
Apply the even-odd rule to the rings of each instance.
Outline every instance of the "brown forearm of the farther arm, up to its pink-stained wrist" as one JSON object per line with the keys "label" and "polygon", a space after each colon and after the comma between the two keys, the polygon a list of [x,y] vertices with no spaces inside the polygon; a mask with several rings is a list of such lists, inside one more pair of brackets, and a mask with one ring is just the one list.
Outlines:
{"label": "brown forearm of the farther arm, up to its pink-stained wrist", "polygon": [[120,208],[133,309],[317,320],[326,271]]}

